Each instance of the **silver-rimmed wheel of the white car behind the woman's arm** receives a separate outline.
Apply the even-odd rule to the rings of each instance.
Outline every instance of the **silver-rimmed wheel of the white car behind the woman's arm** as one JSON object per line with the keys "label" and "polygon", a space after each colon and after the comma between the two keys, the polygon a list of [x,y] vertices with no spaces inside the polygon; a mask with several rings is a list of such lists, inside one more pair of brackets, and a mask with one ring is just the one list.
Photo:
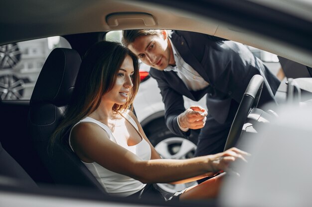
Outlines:
{"label": "silver-rimmed wheel of the white car behind the woman's arm", "polygon": [[[150,134],[149,139],[156,151],[164,159],[187,159],[194,157],[197,138],[181,138],[172,134],[166,126],[159,127]],[[162,190],[175,193],[185,188],[197,185],[197,182],[185,184],[157,184]]]}

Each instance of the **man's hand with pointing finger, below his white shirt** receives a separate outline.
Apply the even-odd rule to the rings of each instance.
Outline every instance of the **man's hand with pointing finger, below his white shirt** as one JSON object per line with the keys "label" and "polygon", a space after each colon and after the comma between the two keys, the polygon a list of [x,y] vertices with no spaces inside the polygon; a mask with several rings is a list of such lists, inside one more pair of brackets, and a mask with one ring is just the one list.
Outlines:
{"label": "man's hand with pointing finger, below his white shirt", "polygon": [[191,106],[178,116],[178,121],[181,128],[197,130],[205,126],[207,114],[204,108]]}

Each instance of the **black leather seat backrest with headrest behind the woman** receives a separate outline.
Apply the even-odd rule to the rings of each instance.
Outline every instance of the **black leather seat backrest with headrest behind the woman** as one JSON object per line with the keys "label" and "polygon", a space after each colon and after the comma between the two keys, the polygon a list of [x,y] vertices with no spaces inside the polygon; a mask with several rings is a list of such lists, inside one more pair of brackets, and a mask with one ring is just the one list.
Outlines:
{"label": "black leather seat backrest with headrest behind the woman", "polygon": [[34,87],[28,114],[29,133],[39,157],[56,184],[90,188],[105,194],[103,187],[75,153],[56,140],[48,144],[68,105],[81,64],[77,51],[56,48],[47,58]]}

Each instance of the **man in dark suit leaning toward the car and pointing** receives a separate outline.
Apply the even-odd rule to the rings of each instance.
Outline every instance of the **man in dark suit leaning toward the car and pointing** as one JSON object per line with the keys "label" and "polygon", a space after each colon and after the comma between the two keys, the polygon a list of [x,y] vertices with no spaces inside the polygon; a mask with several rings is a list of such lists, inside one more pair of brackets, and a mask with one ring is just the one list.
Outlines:
{"label": "man in dark suit leaning toward the car and pointing", "polygon": [[[259,106],[274,101],[280,81],[242,44],[205,34],[165,30],[125,30],[123,44],[151,66],[171,132],[187,137],[201,129],[195,156],[223,151],[246,87],[255,74],[264,77]],[[207,94],[208,114],[200,106],[184,108],[183,95],[198,101]]]}

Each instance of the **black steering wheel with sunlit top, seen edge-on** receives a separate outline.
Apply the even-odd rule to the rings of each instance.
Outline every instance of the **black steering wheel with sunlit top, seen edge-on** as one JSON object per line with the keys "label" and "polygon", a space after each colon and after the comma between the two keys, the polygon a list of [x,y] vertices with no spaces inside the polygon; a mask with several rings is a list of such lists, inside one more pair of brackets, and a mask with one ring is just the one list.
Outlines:
{"label": "black steering wheel with sunlit top, seen edge-on", "polygon": [[241,136],[242,128],[245,124],[248,114],[251,109],[257,108],[259,98],[263,88],[263,77],[254,75],[246,88],[241,103],[234,117],[229,135],[226,139],[224,151],[235,146]]}

